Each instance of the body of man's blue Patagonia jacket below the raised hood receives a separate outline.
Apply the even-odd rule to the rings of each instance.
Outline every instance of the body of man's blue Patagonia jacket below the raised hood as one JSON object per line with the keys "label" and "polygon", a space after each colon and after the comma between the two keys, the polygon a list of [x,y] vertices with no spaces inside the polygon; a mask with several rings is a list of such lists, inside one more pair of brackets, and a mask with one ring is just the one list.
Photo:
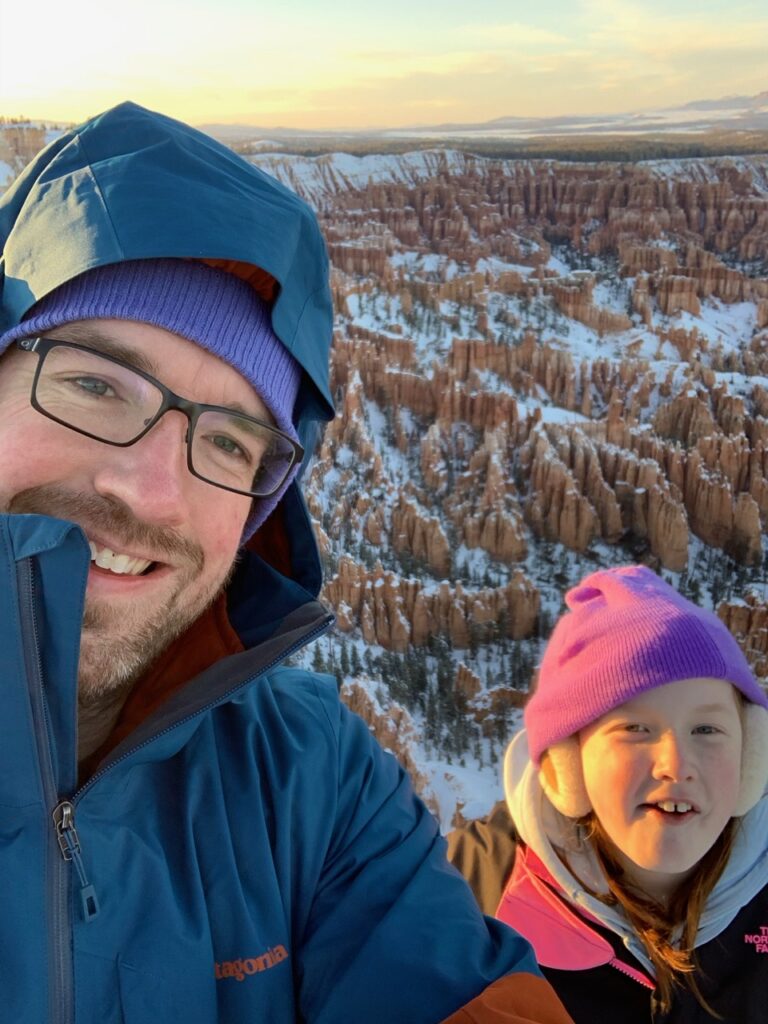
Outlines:
{"label": "body of man's blue Patagonia jacket below the raised hood", "polygon": [[190,681],[78,790],[86,544],[38,516],[0,537],[3,1020],[416,1024],[537,973],[333,681],[276,667],[328,625],[318,605]]}

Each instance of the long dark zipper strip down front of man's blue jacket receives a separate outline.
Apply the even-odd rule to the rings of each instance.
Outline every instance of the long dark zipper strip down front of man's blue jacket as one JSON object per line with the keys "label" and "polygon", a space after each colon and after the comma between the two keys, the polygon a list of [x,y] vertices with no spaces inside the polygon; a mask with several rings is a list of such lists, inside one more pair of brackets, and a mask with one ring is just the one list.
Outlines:
{"label": "long dark zipper strip down front of man's blue jacket", "polygon": [[[40,638],[35,607],[35,570],[31,558],[16,568],[25,668],[27,671],[32,721],[40,766],[43,801],[49,812],[58,803],[48,733],[48,711],[43,689]],[[72,956],[72,913],[69,871],[59,852],[56,830],[47,830],[47,925],[48,925],[48,1020],[50,1024],[74,1022],[74,973]]]}

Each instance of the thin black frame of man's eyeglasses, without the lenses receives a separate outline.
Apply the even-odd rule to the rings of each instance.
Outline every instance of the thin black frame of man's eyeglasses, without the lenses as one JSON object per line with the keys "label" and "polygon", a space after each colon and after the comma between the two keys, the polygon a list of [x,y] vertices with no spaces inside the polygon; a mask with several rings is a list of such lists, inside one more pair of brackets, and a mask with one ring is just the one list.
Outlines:
{"label": "thin black frame of man's eyeglasses, without the lenses", "polygon": [[[186,419],[188,426],[186,428],[186,435],[184,441],[186,443],[186,467],[193,476],[197,476],[199,480],[204,480],[206,483],[210,483],[212,487],[220,487],[222,490],[230,490],[236,495],[245,495],[247,498],[271,498],[275,495],[286,481],[286,477],[294,468],[297,463],[300,463],[304,458],[304,450],[300,444],[297,444],[293,437],[289,436],[284,430],[272,426],[270,423],[265,423],[256,416],[248,416],[246,413],[239,413],[232,409],[227,409],[226,406],[208,406],[201,401],[191,401],[189,398],[183,398],[180,394],[176,394],[175,391],[171,391],[169,387],[166,387],[162,381],[157,380],[151,374],[144,373],[143,370],[139,370],[137,367],[131,366],[130,362],[126,362],[124,359],[119,359],[114,355],[108,355],[105,352],[99,352],[97,348],[89,348],[88,345],[78,345],[72,341],[63,341],[58,338],[19,338],[16,341],[16,345],[23,349],[25,352],[34,353],[38,356],[38,365],[35,371],[35,377],[32,381],[32,392],[30,394],[30,403],[32,408],[45,416],[47,419],[52,420],[54,423],[60,424],[62,427],[67,427],[69,430],[74,430],[77,434],[83,434],[85,437],[91,437],[95,441],[101,441],[103,444],[111,444],[113,447],[130,447],[135,444],[136,441],[141,440],[141,438],[147,434],[156,423],[160,420],[162,416],[171,410],[177,410],[182,413]],[[47,412],[37,400],[37,384],[40,379],[40,374],[43,369],[43,364],[45,362],[45,356],[52,348],[75,348],[81,352],[88,352],[89,355],[98,355],[102,359],[106,359],[110,362],[114,362],[119,367],[123,367],[125,370],[130,370],[131,373],[136,374],[138,377],[143,378],[143,380],[148,381],[154,387],[156,387],[163,396],[163,400],[158,409],[157,413],[153,416],[150,422],[144,426],[144,428],[132,437],[129,441],[112,441],[104,437],[99,437],[98,434],[92,434],[88,430],[81,430],[80,427],[74,427],[71,423],[66,420],[59,419],[57,416],[53,416],[52,413]],[[263,427],[270,433],[278,434],[283,440],[286,440],[293,449],[293,458],[286,469],[280,482],[271,488],[271,490],[266,494],[257,495],[253,490],[241,490],[239,487],[228,487],[225,483],[219,483],[217,480],[211,480],[207,476],[203,476],[199,473],[191,461],[191,438],[195,434],[195,428],[197,426],[198,420],[203,415],[203,413],[224,413],[227,416],[237,416],[240,419],[248,420],[251,423],[257,424],[259,427]]]}

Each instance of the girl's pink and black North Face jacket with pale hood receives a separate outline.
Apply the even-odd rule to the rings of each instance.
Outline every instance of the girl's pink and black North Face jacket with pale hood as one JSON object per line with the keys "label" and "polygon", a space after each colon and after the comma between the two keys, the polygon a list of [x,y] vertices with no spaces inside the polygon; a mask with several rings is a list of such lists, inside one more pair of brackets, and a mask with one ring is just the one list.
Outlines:
{"label": "girl's pink and black North Face jacket with pale hood", "polygon": [[[712,1024],[715,1018],[684,985],[667,1014],[657,1008],[653,969],[626,918],[586,891],[604,892],[604,882],[589,845],[574,838],[572,823],[539,785],[524,731],[510,744],[505,787],[508,807],[498,805],[486,821],[453,833],[450,856],[478,902],[488,910],[495,903],[497,915],[531,942],[575,1024]],[[741,819],[701,915],[695,955],[700,991],[721,1020],[766,1020],[768,794]]]}

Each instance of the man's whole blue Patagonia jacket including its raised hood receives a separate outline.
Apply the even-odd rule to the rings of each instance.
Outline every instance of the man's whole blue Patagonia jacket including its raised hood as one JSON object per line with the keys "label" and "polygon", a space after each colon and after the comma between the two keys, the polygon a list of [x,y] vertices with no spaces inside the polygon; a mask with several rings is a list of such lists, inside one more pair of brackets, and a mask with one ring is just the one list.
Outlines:
{"label": "man's whole blue Patagonia jacket including its raised hood", "polygon": [[[206,136],[123,104],[35,161],[0,232],[3,326],[102,263],[265,268],[306,371],[308,447],[332,415],[314,218]],[[244,551],[226,594],[243,652],[174,690],[79,784],[87,544],[72,523],[0,516],[0,1020],[567,1022],[333,680],[280,667],[332,618],[295,485],[269,524],[283,570]]]}

